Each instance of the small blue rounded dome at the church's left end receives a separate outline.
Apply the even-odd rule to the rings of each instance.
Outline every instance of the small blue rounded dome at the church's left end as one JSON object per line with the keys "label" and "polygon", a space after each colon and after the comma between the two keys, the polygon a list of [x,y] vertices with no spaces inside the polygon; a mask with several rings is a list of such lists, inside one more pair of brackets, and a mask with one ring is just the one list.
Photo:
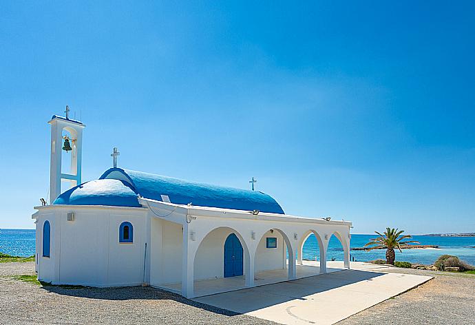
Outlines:
{"label": "small blue rounded dome at the church's left end", "polygon": [[141,207],[137,193],[123,180],[91,180],[62,193],[53,205]]}

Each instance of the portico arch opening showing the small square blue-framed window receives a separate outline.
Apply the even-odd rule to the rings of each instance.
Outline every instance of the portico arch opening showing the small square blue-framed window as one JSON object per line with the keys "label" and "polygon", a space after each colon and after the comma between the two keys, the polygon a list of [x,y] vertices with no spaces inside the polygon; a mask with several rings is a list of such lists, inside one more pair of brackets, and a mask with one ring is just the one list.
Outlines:
{"label": "portico arch opening showing the small square blue-framed window", "polygon": [[262,235],[254,256],[255,284],[265,284],[269,277],[295,279],[295,254],[284,231],[269,229]]}

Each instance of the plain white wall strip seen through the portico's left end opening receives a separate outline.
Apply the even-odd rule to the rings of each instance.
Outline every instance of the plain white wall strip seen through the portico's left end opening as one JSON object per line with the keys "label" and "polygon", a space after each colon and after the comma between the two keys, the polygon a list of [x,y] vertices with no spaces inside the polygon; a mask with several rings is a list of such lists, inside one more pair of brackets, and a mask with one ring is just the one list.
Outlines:
{"label": "plain white wall strip seen through the portico's left end opening", "polygon": [[182,225],[162,220],[162,284],[182,280],[182,242]]}

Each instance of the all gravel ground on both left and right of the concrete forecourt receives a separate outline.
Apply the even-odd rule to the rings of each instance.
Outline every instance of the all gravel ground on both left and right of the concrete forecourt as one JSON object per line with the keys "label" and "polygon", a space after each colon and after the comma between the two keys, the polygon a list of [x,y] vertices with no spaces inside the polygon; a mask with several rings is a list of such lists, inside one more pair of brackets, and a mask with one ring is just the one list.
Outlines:
{"label": "all gravel ground on both left and right of the concrete forecourt", "polygon": [[[475,324],[475,275],[384,271],[435,278],[339,325]],[[33,262],[0,264],[0,324],[275,324],[158,289],[38,286],[12,279],[20,274],[34,274]]]}

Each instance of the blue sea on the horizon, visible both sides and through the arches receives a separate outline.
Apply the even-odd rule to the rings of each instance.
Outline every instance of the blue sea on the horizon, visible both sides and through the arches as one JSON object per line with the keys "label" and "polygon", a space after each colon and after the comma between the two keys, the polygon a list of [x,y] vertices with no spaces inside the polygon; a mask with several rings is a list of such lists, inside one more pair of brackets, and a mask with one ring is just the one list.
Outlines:
{"label": "blue sea on the horizon, visible both sides and through the arches", "polygon": [[[352,234],[350,247],[363,247],[374,235]],[[413,240],[423,245],[439,245],[439,249],[403,249],[396,251],[396,260],[432,264],[443,254],[455,255],[468,264],[475,265],[475,237],[447,237],[414,235]],[[34,255],[35,231],[34,229],[0,229],[0,253],[17,256]],[[360,262],[377,259],[386,259],[386,250],[351,251],[351,257]],[[315,235],[310,235],[304,244],[303,258],[305,260],[319,259],[319,248]],[[328,260],[343,260],[343,248],[339,240],[332,235],[328,243]]]}

